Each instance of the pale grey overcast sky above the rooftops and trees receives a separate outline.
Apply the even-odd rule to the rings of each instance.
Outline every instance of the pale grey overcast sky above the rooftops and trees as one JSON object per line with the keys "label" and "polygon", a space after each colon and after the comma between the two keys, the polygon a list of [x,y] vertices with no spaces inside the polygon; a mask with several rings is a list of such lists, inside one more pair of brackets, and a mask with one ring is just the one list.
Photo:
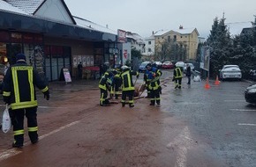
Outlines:
{"label": "pale grey overcast sky above the rooftops and trees", "polygon": [[254,21],[256,0],[64,0],[73,16],[149,37],[158,30],[195,27],[207,38],[214,19]]}

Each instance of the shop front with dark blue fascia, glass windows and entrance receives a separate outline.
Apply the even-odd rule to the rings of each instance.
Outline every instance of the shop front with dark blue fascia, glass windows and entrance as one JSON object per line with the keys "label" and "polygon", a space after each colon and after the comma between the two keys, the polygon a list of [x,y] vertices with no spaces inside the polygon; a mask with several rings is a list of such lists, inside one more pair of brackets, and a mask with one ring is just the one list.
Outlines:
{"label": "shop front with dark blue fascia, glass windows and entrance", "polygon": [[74,20],[74,24],[65,24],[2,10],[0,16],[0,61],[3,64],[13,64],[15,55],[24,53],[28,64],[49,81],[56,81],[62,68],[68,68],[72,77],[77,76],[79,62],[83,67],[117,63],[119,55],[114,33],[82,27]]}

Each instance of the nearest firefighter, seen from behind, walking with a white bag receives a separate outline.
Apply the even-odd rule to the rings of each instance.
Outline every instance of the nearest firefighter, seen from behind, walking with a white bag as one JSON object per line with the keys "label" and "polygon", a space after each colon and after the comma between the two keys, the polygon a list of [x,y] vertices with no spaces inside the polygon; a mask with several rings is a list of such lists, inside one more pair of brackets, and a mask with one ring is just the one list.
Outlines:
{"label": "nearest firefighter, seen from behind, walking with a white bag", "polygon": [[32,143],[38,142],[37,100],[34,85],[44,98],[49,100],[49,88],[38,72],[26,64],[25,54],[16,55],[16,63],[11,65],[4,76],[4,102],[10,105],[14,142],[12,147],[21,148],[24,142],[24,115],[27,119],[28,136]]}

